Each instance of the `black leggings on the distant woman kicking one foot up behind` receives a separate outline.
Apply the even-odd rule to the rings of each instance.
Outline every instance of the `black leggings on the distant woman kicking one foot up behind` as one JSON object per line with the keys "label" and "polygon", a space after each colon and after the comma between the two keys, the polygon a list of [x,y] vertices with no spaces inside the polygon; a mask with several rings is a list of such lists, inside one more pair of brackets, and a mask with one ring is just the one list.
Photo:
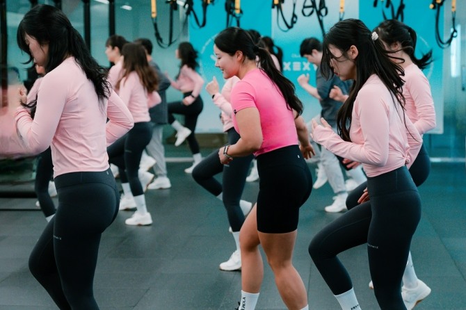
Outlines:
{"label": "black leggings on the distant woman kicking one foot up behind", "polygon": [[[189,95],[191,95],[191,92],[185,92],[183,94],[183,98],[186,98]],[[184,127],[192,131],[191,135],[186,138],[192,154],[198,154],[200,152],[199,143],[195,138],[194,131],[196,124],[198,124],[198,117],[202,112],[202,108],[204,108],[204,101],[202,101],[200,96],[198,96],[189,106],[185,106],[182,101],[170,102],[168,104],[168,122],[170,124],[175,122],[173,114],[182,114],[184,115]]]}

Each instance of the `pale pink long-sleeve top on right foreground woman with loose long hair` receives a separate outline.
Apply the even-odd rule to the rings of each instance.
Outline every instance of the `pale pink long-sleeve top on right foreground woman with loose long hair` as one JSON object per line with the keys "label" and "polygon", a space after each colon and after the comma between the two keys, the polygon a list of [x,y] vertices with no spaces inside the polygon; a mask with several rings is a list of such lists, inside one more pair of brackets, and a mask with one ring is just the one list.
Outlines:
{"label": "pale pink long-sleeve top on right foreground woman with loose long hair", "polygon": [[419,153],[422,137],[394,100],[383,82],[373,74],[354,102],[351,142],[342,140],[326,127],[314,129],[315,141],[336,155],[362,163],[368,177],[405,164],[410,166]]}

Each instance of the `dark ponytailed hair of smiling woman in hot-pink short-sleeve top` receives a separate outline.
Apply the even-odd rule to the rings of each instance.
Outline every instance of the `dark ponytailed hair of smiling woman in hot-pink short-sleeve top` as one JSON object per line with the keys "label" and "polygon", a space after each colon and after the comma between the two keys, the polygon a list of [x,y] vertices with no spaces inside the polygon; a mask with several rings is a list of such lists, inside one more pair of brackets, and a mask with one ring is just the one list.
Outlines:
{"label": "dark ponytailed hair of smiling woman in hot-pink short-sleeve top", "polygon": [[249,60],[256,60],[259,56],[260,68],[263,70],[269,79],[277,85],[280,92],[287,103],[288,108],[298,112],[298,115],[303,113],[303,103],[296,97],[294,84],[289,81],[275,67],[270,53],[252,40],[247,31],[238,27],[229,27],[218,33],[214,43],[220,51],[223,51],[230,56],[233,56],[236,51],[241,51]]}

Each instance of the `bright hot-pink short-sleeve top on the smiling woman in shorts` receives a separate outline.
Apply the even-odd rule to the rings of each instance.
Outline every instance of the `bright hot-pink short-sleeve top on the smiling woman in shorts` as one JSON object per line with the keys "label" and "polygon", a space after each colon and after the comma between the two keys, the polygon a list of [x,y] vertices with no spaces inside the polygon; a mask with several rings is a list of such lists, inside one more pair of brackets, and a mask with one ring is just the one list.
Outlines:
{"label": "bright hot-pink short-sleeve top on the smiling woman in shorts", "polygon": [[[243,108],[257,108],[261,120],[262,145],[255,156],[271,152],[274,149],[298,145],[298,133],[294,123],[293,111],[277,85],[260,69],[251,70],[232,90],[233,113]],[[236,117],[233,117],[234,129],[240,134]]]}

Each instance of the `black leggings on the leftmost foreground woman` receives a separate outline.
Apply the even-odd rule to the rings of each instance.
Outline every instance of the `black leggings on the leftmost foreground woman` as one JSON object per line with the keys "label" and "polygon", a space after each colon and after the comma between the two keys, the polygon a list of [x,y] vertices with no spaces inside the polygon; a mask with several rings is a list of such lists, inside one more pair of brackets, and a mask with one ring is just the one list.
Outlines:
{"label": "black leggings on the leftmost foreground woman", "polygon": [[118,213],[111,170],[72,172],[55,178],[56,215],[29,257],[29,270],[59,309],[99,309],[93,293],[102,232]]}

